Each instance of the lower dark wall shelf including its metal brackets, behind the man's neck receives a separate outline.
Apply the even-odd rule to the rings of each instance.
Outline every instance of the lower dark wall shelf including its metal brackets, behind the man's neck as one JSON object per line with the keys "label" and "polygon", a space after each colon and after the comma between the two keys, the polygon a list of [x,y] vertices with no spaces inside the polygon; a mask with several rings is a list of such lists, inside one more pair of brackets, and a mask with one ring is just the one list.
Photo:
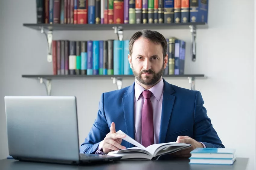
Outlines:
{"label": "lower dark wall shelf including its metal brackets, behind the man's neck", "polygon": [[[23,78],[39,79],[41,84],[46,86],[47,95],[51,95],[52,79],[103,79],[111,78],[117,88],[122,88],[123,78],[135,78],[134,75],[22,75]],[[185,74],[185,75],[163,75],[163,78],[186,78],[191,90],[195,90],[195,78],[206,78],[204,74]]]}

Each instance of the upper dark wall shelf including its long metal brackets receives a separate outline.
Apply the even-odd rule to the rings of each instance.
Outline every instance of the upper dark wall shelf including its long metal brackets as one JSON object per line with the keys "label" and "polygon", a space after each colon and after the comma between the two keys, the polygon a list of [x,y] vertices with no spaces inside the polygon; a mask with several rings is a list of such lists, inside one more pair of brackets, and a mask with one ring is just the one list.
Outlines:
{"label": "upper dark wall shelf including its long metal brackets", "polygon": [[190,29],[192,49],[192,61],[196,61],[196,30],[208,28],[207,23],[152,23],[152,24],[37,24],[37,23],[24,23],[23,26],[40,30],[46,35],[48,43],[47,61],[52,62],[52,41],[53,31],[69,30],[69,31],[85,31],[85,30],[113,30],[117,34],[118,40],[123,40],[123,30],[136,30],[136,29]]}

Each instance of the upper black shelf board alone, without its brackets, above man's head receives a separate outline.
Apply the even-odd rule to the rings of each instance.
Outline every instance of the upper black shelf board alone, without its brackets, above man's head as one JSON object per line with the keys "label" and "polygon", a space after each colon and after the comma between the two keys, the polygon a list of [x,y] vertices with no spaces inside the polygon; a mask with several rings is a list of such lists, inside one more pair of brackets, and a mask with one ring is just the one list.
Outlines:
{"label": "upper black shelf board alone, without its brackets, above man's head", "polygon": [[135,29],[187,29],[193,25],[197,28],[208,28],[207,23],[152,23],[152,24],[37,24],[24,23],[23,26],[31,29],[41,30],[112,30],[114,26],[121,26],[124,30]]}

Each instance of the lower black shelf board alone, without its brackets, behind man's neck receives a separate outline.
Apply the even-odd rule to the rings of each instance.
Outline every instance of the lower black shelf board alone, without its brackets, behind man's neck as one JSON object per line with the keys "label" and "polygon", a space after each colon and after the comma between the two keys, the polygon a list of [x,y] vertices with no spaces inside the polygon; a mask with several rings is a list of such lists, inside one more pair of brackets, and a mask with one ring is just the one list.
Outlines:
{"label": "lower black shelf board alone, without its brackets, behind man's neck", "polygon": [[[23,78],[76,79],[76,78],[135,78],[134,75],[22,75]],[[163,78],[204,77],[204,74],[163,75]]]}

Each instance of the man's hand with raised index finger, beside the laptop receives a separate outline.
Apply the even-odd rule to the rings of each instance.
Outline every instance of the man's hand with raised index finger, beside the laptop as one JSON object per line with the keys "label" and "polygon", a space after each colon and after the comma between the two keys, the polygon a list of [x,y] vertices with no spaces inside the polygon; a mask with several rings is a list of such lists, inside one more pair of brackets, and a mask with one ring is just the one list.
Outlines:
{"label": "man's hand with raised index finger, beside the laptop", "polygon": [[121,146],[122,138],[126,135],[116,133],[115,123],[111,123],[110,132],[106,135],[102,144],[102,151],[109,153],[110,151],[116,151],[119,149],[125,149],[126,147]]}

